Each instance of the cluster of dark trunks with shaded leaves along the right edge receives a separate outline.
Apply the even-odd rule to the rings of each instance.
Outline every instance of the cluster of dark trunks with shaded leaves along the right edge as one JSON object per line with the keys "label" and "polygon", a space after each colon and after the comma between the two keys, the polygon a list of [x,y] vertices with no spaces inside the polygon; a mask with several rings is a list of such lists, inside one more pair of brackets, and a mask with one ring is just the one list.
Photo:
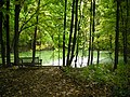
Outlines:
{"label": "cluster of dark trunks with shaded leaves along the right edge", "polygon": [[[128,36],[129,36],[129,1],[117,0],[117,11],[116,11],[116,36],[115,36],[115,65],[114,70],[117,69],[118,57],[119,57],[119,37],[120,32],[122,34],[122,53],[123,53],[123,63],[128,64],[129,48],[128,48]],[[129,45],[130,46],[130,45]]]}

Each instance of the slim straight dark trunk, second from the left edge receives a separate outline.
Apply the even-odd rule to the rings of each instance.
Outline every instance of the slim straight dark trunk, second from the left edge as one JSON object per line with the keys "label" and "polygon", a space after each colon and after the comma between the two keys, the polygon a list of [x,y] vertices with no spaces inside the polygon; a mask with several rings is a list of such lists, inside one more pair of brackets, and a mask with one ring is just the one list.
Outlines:
{"label": "slim straight dark trunk, second from the left edge", "polygon": [[6,66],[11,67],[10,61],[10,0],[6,0]]}

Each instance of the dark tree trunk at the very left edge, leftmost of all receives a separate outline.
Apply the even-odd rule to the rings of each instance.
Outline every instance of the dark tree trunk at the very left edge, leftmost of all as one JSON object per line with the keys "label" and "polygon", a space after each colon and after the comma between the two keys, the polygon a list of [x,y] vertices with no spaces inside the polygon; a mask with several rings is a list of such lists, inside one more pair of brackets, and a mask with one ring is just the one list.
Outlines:
{"label": "dark tree trunk at the very left edge, leftmost of all", "polygon": [[[0,9],[3,6],[3,0],[0,1]],[[0,44],[1,44],[1,57],[2,57],[2,66],[5,67],[5,47],[3,43],[3,34],[2,34],[2,19],[3,12],[0,10]]]}

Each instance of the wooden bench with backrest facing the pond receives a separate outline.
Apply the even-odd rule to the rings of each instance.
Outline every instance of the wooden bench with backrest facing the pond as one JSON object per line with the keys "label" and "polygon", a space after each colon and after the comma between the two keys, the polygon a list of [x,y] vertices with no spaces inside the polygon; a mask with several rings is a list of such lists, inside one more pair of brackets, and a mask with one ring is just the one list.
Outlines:
{"label": "wooden bench with backrest facing the pond", "polygon": [[18,59],[20,66],[41,66],[42,59],[39,59],[39,57],[35,57],[35,61],[32,63],[32,57],[21,57]]}

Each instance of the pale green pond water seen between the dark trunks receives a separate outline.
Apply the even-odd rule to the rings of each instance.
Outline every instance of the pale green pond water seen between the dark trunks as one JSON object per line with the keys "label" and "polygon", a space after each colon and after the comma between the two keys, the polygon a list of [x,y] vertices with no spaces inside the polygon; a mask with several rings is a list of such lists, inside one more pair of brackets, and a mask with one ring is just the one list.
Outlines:
{"label": "pale green pond water seen between the dark trunks", "polygon": [[[30,52],[22,52],[20,53],[20,57],[31,57],[31,51]],[[67,55],[67,52],[66,52]],[[39,57],[42,59],[42,66],[62,66],[63,65],[63,53],[62,50],[55,50],[55,51],[37,51],[36,57]],[[93,52],[93,64],[96,64],[98,61],[98,53],[96,51]],[[101,51],[100,52],[100,64],[113,64],[114,63],[114,54],[112,56],[109,55],[108,51]],[[75,67],[75,59],[74,57],[72,66]],[[13,54],[11,54],[11,61],[13,63]],[[122,57],[119,57],[119,60],[122,60]],[[77,57],[77,67],[86,67],[88,61],[88,51],[83,52],[79,51],[78,57]],[[1,63],[1,58],[0,58]]]}

